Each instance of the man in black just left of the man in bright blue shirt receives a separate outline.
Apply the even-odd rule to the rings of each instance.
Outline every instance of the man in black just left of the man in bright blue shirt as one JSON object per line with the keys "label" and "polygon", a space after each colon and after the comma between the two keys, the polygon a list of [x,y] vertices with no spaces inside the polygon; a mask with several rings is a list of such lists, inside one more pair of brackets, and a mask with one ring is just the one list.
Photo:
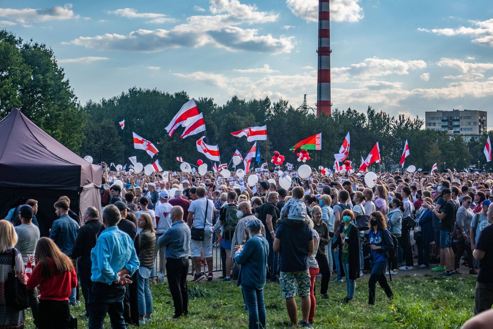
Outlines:
{"label": "man in black just left of the man in bright blue shirt", "polygon": [[[91,250],[96,246],[96,234],[103,224],[98,219],[98,210],[94,207],[88,207],[84,212],[85,224],[79,228],[77,239],[73,245],[71,258],[77,260],[78,278],[80,289],[84,296],[86,317],[89,317],[87,300],[89,298],[89,289],[91,288]],[[78,258],[78,259],[77,259]]]}

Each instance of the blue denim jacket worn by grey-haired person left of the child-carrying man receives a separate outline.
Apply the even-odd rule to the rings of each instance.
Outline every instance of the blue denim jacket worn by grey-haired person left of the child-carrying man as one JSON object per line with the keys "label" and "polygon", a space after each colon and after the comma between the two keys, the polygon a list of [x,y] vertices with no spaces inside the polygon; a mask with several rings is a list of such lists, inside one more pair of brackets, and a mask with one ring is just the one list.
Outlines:
{"label": "blue denim jacket worn by grey-haired person left of the child-carrying man", "polygon": [[262,234],[248,239],[242,252],[235,256],[235,261],[241,265],[237,285],[263,289],[267,275],[268,255],[269,243]]}

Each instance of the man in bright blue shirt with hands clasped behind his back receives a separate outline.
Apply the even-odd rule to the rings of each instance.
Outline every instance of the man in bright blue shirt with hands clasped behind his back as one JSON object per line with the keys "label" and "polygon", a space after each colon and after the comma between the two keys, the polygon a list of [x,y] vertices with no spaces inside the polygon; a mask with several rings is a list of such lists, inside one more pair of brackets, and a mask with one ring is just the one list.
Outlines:
{"label": "man in bright blue shirt with hands clasped behind his back", "polygon": [[106,229],[99,236],[91,251],[91,281],[89,291],[89,328],[103,329],[106,313],[111,328],[125,329],[123,298],[125,285],[140,262],[130,236],[117,227],[121,219],[118,208],[108,205],[103,210]]}

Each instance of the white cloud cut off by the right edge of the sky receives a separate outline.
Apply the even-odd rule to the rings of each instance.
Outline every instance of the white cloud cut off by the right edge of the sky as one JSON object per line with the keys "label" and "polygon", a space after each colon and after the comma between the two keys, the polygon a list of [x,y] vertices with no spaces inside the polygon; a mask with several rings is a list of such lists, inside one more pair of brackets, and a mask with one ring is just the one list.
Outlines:
{"label": "white cloud cut off by the right edge of the sky", "polygon": [[493,46],[493,18],[486,21],[469,21],[474,27],[459,26],[455,29],[424,29],[419,28],[418,31],[434,33],[438,36],[470,36],[472,42]]}

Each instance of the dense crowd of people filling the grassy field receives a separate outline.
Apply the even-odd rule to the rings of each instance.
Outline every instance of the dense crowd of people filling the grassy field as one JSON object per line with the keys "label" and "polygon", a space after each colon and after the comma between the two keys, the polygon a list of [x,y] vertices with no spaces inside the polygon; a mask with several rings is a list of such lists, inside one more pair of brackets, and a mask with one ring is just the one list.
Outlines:
{"label": "dense crowd of people filling the grassy field", "polygon": [[[151,322],[150,285],[163,281],[173,318],[187,316],[187,282],[214,280],[214,248],[218,279],[241,287],[249,328],[266,328],[267,281],[280,285],[290,323],[311,328],[329,286],[346,281],[342,303],[351,303],[358,279],[368,276],[374,304],[377,282],[392,299],[387,277],[416,268],[477,275],[474,314],[492,307],[490,174],[396,171],[368,186],[364,173],[313,170],[284,189],[274,170],[252,186],[234,172],[231,179],[166,173],[105,170],[101,209],[88,207],[79,217],[61,196],[49,237],[40,237],[36,200],[0,220],[0,285],[9,273],[26,285],[36,328],[69,328],[79,291],[85,314],[78,316],[91,329],[103,328],[106,315],[112,328]],[[24,310],[0,296],[0,328],[23,328],[24,321]]]}

